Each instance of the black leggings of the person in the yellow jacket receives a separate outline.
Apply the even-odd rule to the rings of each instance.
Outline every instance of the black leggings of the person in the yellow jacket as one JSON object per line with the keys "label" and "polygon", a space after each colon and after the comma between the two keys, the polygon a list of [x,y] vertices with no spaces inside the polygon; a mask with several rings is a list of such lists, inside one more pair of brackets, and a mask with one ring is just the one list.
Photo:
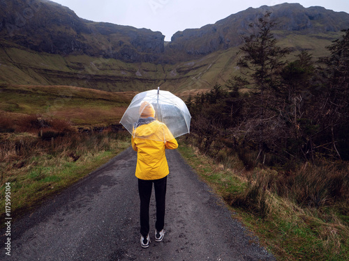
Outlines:
{"label": "black leggings of the person in the yellow jacket", "polygon": [[163,229],[165,223],[165,196],[168,177],[160,180],[140,180],[138,179],[138,192],[140,193],[140,233],[147,237],[149,233],[149,203],[151,189],[155,190],[156,199],[156,223],[155,228],[158,231]]}

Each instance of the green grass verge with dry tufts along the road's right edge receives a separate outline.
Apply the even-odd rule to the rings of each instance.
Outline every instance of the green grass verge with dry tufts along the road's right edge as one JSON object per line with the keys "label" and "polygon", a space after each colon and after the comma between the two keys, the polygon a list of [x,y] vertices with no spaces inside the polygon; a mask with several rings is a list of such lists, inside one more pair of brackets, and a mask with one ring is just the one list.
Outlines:
{"label": "green grass verge with dry tufts along the road's right edge", "polygon": [[[277,193],[285,184],[276,185],[274,181],[280,177],[276,171],[246,171],[237,158],[230,159],[228,168],[184,142],[180,143],[179,152],[277,260],[349,260],[348,201],[313,205],[308,200],[302,204],[293,196]],[[308,171],[316,173],[312,168]],[[295,180],[301,177],[295,175]],[[296,185],[302,187],[299,182]],[[313,202],[317,200],[313,198]]]}

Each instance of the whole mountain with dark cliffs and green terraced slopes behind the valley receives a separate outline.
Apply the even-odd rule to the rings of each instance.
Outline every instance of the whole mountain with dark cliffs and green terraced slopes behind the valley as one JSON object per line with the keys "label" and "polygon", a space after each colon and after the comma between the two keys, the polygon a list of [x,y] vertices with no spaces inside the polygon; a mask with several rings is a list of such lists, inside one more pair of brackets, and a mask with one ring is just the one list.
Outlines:
{"label": "whole mountain with dark cliffs and green terraced slopes behind the valley", "polygon": [[325,56],[325,47],[349,28],[348,13],[283,3],[248,8],[164,42],[161,32],[88,21],[52,1],[0,0],[0,86],[211,88],[235,73],[241,35],[266,12],[278,22],[273,32],[279,45],[309,50],[315,58]]}

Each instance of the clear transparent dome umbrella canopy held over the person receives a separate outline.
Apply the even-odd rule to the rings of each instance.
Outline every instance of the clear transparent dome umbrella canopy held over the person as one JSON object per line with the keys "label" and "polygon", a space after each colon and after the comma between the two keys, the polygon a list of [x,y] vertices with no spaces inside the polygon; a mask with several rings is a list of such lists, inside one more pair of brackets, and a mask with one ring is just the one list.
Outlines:
{"label": "clear transparent dome umbrella canopy held over the person", "polygon": [[[144,103],[145,102],[145,103]],[[173,95],[166,90],[147,90],[142,93],[138,93],[133,97],[131,104],[126,109],[124,116],[122,116],[120,123],[133,134],[137,135],[135,129],[140,125],[138,122],[144,121],[144,104],[152,106],[155,111],[155,120],[165,124],[162,126],[164,132],[163,138],[146,138],[144,136],[139,137],[143,139],[154,139],[156,141],[166,142],[167,139],[171,139],[178,136],[189,133],[191,125],[191,113],[189,113],[186,104],[176,95]],[[149,108],[147,106],[146,108]],[[166,127],[170,130],[172,135],[165,135]],[[137,136],[135,136],[137,137]],[[173,139],[172,137],[172,139]]]}

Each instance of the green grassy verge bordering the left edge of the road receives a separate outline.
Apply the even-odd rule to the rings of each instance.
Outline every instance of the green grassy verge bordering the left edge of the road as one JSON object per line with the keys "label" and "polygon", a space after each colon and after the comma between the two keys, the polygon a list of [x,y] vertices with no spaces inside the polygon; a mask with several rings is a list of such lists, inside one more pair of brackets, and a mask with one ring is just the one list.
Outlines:
{"label": "green grassy verge bordering the left edge of the road", "polygon": [[[43,199],[69,187],[128,148],[129,136],[117,137],[118,134],[91,134],[63,138],[54,150],[50,142],[40,141],[34,136],[29,139],[18,135],[17,138],[12,137],[14,140],[20,138],[24,145],[30,144],[32,148],[19,156],[11,150],[11,145],[8,146],[6,157],[0,162],[3,170],[0,208],[5,209],[5,187],[10,182],[11,214],[13,219],[19,218]],[[78,155],[79,159],[73,161],[70,157],[72,153]]]}

